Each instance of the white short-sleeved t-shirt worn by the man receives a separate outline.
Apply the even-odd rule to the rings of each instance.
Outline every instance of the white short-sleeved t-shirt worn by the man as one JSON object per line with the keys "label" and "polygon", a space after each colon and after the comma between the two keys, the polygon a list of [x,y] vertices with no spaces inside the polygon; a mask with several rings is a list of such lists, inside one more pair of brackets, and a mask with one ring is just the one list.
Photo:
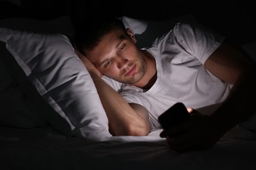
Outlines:
{"label": "white short-sleeved t-shirt worn by the man", "polygon": [[[128,103],[138,103],[148,109],[153,129],[160,127],[158,116],[177,102],[194,109],[221,103],[232,85],[209,73],[203,63],[224,38],[202,25],[177,23],[156,39],[151,48],[142,49],[156,59],[157,80],[152,88],[144,92],[141,88],[121,84],[121,95]],[[107,82],[111,86],[116,84]],[[119,84],[115,88],[117,86]]]}

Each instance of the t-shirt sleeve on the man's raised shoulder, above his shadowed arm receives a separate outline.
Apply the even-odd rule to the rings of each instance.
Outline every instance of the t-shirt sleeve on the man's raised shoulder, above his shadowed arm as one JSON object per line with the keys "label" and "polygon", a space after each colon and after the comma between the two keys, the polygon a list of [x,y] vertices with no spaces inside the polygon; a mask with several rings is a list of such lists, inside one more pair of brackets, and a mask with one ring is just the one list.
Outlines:
{"label": "t-shirt sleeve on the man's raised shoulder, above his shadowed arm", "polygon": [[177,42],[201,63],[221,45],[225,37],[200,24],[179,22],[173,27]]}

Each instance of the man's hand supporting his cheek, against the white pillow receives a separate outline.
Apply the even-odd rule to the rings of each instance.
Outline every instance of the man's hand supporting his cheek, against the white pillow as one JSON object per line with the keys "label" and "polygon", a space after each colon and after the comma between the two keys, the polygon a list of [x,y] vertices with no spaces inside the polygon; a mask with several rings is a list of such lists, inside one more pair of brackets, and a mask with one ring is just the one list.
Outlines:
{"label": "man's hand supporting his cheek, against the white pillow", "polygon": [[86,69],[89,71],[89,73],[95,73],[96,75],[98,75],[100,78],[102,77],[102,73],[100,71],[98,71],[98,69],[95,67],[95,65],[83,54],[81,54],[81,52],[79,52],[76,48],[75,49],[75,54],[77,54],[77,56],[79,57],[79,59],[81,59],[81,61],[83,61],[83,64],[85,65]]}

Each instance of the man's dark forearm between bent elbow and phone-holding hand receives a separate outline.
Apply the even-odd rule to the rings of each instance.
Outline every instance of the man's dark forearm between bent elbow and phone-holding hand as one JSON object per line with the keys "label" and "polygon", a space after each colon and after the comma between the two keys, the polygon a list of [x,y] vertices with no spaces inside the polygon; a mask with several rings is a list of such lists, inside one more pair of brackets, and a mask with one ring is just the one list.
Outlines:
{"label": "man's dark forearm between bent elbow and phone-holding hand", "polygon": [[255,75],[254,69],[241,75],[226,101],[212,114],[213,121],[219,122],[224,131],[242,123],[255,112]]}

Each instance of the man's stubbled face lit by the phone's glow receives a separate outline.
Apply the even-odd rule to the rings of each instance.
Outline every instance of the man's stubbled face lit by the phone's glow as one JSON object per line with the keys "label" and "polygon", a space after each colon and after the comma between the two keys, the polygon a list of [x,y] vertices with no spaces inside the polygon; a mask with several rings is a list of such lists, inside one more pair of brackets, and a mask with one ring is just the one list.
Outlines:
{"label": "man's stubbled face lit by the phone's glow", "polygon": [[112,31],[94,50],[86,52],[87,58],[104,75],[118,82],[134,84],[146,71],[146,61],[135,41],[121,30]]}

